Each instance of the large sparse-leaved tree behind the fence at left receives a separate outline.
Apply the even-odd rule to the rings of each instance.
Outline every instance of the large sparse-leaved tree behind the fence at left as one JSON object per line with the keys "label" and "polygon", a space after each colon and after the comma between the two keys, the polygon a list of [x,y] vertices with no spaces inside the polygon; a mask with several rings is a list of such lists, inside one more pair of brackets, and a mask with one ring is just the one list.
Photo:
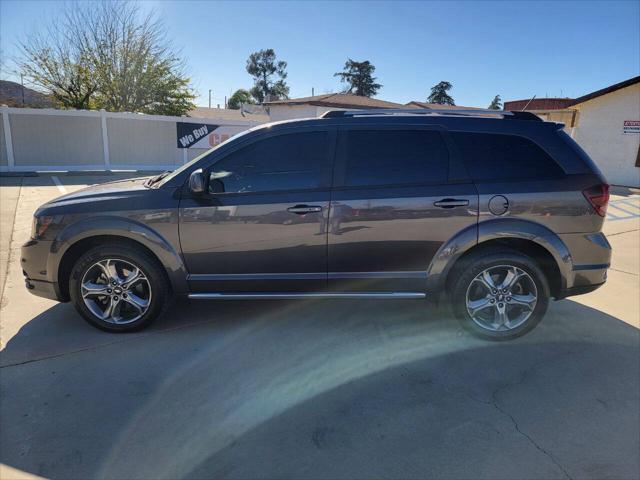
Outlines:
{"label": "large sparse-leaved tree behind the fence at left", "polygon": [[63,106],[167,115],[194,108],[184,63],[166,28],[137,4],[76,4],[48,32],[46,41],[34,35],[21,44],[19,64]]}

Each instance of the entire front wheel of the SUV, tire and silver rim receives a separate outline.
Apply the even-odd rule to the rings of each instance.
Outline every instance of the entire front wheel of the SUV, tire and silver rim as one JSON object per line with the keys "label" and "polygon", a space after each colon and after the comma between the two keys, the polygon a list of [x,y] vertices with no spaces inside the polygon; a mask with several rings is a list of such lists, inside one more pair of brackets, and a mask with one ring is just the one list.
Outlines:
{"label": "entire front wheel of the SUV, tire and silver rim", "polygon": [[85,252],[71,271],[69,293],[87,322],[118,333],[148,326],[164,313],[171,299],[158,260],[143,248],[126,244],[103,244]]}

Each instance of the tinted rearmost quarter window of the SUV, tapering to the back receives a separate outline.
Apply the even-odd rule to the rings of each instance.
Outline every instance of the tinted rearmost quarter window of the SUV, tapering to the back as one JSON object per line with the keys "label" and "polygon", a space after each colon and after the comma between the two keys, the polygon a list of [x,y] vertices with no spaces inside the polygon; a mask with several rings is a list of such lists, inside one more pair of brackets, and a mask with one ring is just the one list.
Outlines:
{"label": "tinted rearmost quarter window of the SUV, tapering to the back", "polygon": [[531,140],[516,135],[451,132],[474,180],[559,178],[560,166]]}

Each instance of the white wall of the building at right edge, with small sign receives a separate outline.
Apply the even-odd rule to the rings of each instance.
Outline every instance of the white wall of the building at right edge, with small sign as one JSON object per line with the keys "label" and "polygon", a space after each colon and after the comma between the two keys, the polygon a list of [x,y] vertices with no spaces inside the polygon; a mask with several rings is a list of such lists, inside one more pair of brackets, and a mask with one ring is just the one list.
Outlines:
{"label": "white wall of the building at right edge, with small sign", "polygon": [[598,164],[612,185],[640,187],[635,166],[640,134],[623,134],[625,120],[640,120],[640,84],[575,105],[573,138]]}

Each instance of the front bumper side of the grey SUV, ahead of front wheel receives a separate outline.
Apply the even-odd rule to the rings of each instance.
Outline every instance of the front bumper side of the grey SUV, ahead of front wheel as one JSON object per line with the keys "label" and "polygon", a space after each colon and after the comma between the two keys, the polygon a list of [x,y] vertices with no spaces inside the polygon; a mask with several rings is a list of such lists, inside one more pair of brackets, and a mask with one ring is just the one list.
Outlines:
{"label": "front bumper side of the grey SUV, ahead of front wheel", "polygon": [[20,264],[25,277],[25,287],[30,293],[58,302],[62,301],[58,284],[53,281],[54,272],[47,270],[51,242],[29,240],[22,246]]}

